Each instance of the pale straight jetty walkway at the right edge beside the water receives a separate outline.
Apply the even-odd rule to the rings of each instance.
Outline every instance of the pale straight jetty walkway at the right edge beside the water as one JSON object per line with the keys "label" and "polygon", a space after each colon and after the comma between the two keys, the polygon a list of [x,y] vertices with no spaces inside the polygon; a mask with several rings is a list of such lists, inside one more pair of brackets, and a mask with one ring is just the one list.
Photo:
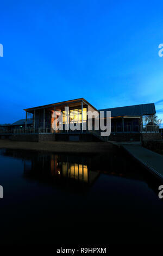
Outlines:
{"label": "pale straight jetty walkway at the right edge beside the water", "polygon": [[140,145],[122,145],[122,147],[151,173],[163,179],[163,156]]}

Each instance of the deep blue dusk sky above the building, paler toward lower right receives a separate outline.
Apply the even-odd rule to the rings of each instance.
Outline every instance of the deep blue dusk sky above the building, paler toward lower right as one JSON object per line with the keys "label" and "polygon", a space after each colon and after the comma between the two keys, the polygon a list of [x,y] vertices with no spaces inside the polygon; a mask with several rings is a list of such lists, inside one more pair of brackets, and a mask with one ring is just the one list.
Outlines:
{"label": "deep blue dusk sky above the building, paler toward lower right", "polygon": [[79,97],[98,109],[158,102],[163,119],[162,10],[161,1],[1,1],[0,124]]}

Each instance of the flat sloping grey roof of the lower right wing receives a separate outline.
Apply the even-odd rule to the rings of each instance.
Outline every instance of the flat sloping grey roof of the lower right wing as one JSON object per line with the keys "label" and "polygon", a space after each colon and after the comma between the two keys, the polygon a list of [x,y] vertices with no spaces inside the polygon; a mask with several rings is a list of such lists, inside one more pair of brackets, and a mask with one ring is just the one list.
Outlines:
{"label": "flat sloping grey roof of the lower right wing", "polygon": [[133,106],[126,106],[126,107],[114,107],[114,108],[105,108],[105,109],[98,109],[99,111],[111,111],[111,117],[124,117],[128,116],[142,116],[142,115],[150,115],[155,114],[155,105],[154,103],[148,104],[140,104],[140,105],[133,105]]}

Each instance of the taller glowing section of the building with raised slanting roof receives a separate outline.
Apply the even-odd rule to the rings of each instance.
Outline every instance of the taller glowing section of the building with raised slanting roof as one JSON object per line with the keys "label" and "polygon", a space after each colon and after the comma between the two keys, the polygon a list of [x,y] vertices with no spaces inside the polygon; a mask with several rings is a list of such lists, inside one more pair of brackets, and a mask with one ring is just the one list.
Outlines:
{"label": "taller glowing section of the building with raised slanting roof", "polygon": [[[65,107],[68,107],[68,113],[65,111]],[[33,121],[33,129],[39,133],[64,133],[67,132],[66,125],[73,122],[74,124],[80,124],[80,131],[84,131],[84,127],[87,126],[87,111],[97,111],[89,102],[85,99],[76,99],[53,103],[45,106],[33,107],[24,109],[26,111],[26,120]],[[61,121],[55,125],[53,124],[55,119],[59,118],[62,114]],[[59,129],[63,125],[63,129]],[[26,127],[27,129],[27,127]],[[68,131],[70,132],[70,131]],[[72,132],[73,133],[73,132]]]}

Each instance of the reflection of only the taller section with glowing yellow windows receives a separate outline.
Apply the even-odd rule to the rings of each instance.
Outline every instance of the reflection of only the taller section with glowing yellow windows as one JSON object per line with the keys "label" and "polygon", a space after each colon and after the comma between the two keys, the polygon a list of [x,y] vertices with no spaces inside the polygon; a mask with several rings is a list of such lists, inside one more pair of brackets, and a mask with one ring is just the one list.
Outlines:
{"label": "reflection of only the taller section with glowing yellow windows", "polygon": [[89,170],[84,157],[74,160],[72,156],[38,153],[37,157],[32,158],[31,161],[24,161],[24,174],[92,184],[99,172]]}

